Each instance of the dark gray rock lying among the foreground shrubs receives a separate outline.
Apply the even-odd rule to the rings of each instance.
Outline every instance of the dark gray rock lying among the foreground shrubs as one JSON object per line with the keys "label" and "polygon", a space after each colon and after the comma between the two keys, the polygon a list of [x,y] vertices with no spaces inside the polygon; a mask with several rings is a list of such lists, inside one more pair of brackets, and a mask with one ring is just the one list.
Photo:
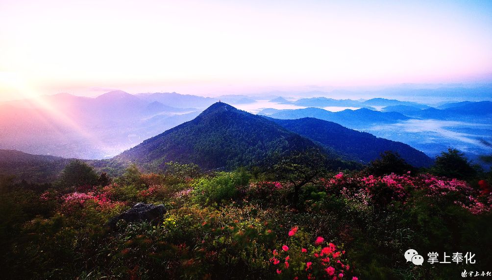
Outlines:
{"label": "dark gray rock lying among the foreground shrubs", "polygon": [[139,202],[133,205],[128,211],[111,218],[108,225],[111,228],[115,228],[116,223],[120,220],[124,220],[128,223],[142,221],[152,222],[161,218],[164,213],[166,213],[166,209],[163,204],[154,205]]}

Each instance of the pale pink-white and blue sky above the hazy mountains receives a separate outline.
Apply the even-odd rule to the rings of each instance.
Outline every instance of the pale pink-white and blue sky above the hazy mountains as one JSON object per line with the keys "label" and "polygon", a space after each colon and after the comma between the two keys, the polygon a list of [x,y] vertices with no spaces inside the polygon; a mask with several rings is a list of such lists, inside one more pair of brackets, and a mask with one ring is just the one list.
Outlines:
{"label": "pale pink-white and blue sky above the hazy mountains", "polygon": [[0,0],[0,101],[492,82],[492,1]]}

